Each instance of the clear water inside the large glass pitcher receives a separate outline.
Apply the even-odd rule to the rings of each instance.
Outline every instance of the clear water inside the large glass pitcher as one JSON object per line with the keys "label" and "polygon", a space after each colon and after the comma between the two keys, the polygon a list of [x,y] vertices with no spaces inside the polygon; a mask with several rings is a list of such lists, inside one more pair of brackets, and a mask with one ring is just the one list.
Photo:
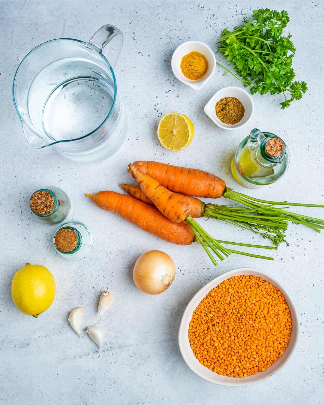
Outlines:
{"label": "clear water inside the large glass pitcher", "polygon": [[63,58],[45,66],[28,92],[28,114],[44,139],[80,138],[96,130],[113,105],[114,83],[102,66]]}

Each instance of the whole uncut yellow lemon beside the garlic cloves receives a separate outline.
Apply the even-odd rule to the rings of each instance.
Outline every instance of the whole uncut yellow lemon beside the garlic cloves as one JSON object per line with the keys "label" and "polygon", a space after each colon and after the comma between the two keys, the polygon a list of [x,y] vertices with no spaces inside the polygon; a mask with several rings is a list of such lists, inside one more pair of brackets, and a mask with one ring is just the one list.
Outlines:
{"label": "whole uncut yellow lemon beside the garlic cloves", "polygon": [[53,302],[55,297],[54,277],[46,267],[27,263],[13,276],[11,295],[13,302],[21,312],[37,318]]}

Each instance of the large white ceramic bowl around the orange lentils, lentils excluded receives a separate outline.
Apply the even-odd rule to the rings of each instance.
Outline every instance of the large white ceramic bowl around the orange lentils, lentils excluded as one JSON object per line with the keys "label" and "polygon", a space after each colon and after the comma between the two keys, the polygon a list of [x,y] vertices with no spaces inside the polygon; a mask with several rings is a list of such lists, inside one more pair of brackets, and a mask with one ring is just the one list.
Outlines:
{"label": "large white ceramic bowl around the orange lentils, lentils excluded", "polygon": [[[259,372],[254,375],[249,375],[248,377],[232,378],[232,377],[228,377],[226,375],[219,375],[219,374],[215,373],[214,371],[209,370],[207,367],[204,367],[202,364],[200,364],[200,362],[194,356],[192,348],[190,347],[190,343],[189,343],[189,339],[188,339],[188,329],[189,329],[190,320],[192,318],[192,314],[193,314],[194,310],[199,305],[200,301],[203,298],[205,298],[205,296],[209,293],[209,291],[212,290],[214,287],[218,286],[219,283],[222,283],[222,281],[227,280],[228,278],[230,278],[232,276],[243,275],[243,274],[256,275],[258,277],[262,277],[264,280],[269,281],[282,292],[283,296],[286,298],[286,302],[290,309],[290,314],[291,314],[291,319],[292,319],[292,331],[291,331],[288,347],[286,348],[286,350],[283,353],[283,355],[281,356],[281,358],[277,359],[275,364],[273,364],[268,369],[266,369],[266,371]],[[221,384],[221,385],[228,385],[228,386],[243,386],[243,385],[257,384],[259,382],[266,380],[267,378],[271,377],[271,375],[275,374],[277,371],[282,369],[283,366],[286,364],[288,358],[292,355],[292,352],[294,351],[294,348],[297,343],[297,338],[298,338],[298,319],[297,319],[296,309],[295,309],[289,295],[287,294],[287,292],[272,277],[270,277],[268,274],[264,273],[263,271],[253,269],[252,267],[242,267],[241,269],[231,270],[231,271],[228,271],[227,273],[224,273],[224,274],[216,277],[215,279],[210,281],[208,284],[206,284],[205,287],[201,288],[192,297],[189,304],[185,308],[185,311],[183,312],[183,315],[181,318],[181,323],[180,323],[180,328],[179,328],[179,337],[178,338],[179,338],[179,348],[180,348],[180,352],[182,354],[183,359],[188,364],[190,369],[192,369],[192,371],[194,371],[194,373],[198,374],[200,377],[202,377],[202,378],[206,379],[207,381],[210,381],[214,384]]]}

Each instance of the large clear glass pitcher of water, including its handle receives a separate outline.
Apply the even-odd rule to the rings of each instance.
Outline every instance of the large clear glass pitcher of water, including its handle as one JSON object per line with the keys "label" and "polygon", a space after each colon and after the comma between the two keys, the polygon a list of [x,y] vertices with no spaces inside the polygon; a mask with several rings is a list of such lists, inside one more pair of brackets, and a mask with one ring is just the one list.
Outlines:
{"label": "large clear glass pitcher of water, including its handle", "polygon": [[111,25],[85,43],[71,38],[32,49],[13,79],[13,101],[30,146],[83,162],[109,158],[127,123],[113,67],[124,36]]}

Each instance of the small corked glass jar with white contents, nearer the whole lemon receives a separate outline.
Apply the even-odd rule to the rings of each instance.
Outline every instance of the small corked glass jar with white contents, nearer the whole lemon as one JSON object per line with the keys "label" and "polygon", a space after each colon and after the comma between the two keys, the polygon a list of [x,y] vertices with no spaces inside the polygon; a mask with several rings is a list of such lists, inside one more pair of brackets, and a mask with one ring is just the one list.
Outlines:
{"label": "small corked glass jar with white contents, nearer the whole lemon", "polygon": [[79,259],[87,255],[93,245],[89,228],[81,222],[66,222],[54,234],[56,252],[64,259]]}

